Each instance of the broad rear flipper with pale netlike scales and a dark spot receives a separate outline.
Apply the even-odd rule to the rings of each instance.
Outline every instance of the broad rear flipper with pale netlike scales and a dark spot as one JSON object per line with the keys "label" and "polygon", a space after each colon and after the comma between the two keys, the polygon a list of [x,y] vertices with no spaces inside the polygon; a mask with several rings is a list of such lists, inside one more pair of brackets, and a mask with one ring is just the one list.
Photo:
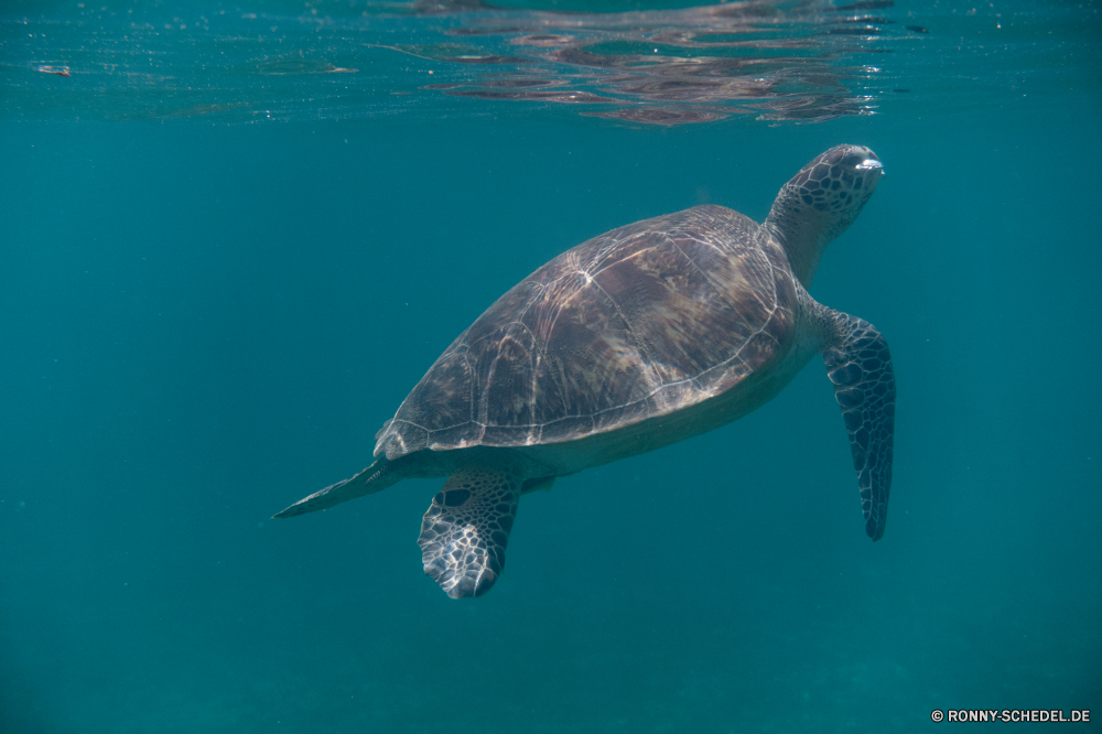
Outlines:
{"label": "broad rear flipper with pale netlike scales and a dark spot", "polygon": [[449,596],[482,596],[505,569],[525,476],[508,465],[456,469],[421,521],[424,572]]}

